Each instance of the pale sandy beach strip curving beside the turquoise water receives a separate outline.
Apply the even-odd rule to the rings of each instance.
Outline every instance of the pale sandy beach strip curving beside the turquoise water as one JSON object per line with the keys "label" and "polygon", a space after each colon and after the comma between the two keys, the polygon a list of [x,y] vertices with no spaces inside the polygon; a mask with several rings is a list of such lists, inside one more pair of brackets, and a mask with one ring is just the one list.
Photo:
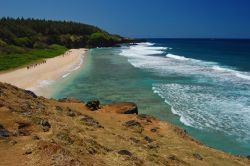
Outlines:
{"label": "pale sandy beach strip curving beside the turquoise water", "polygon": [[69,72],[77,69],[82,64],[83,54],[87,49],[71,49],[65,54],[46,59],[46,63],[37,65],[34,68],[21,68],[10,72],[0,73],[0,82],[9,83],[22,89],[30,89],[43,95],[49,96],[42,89],[46,84],[56,81]]}

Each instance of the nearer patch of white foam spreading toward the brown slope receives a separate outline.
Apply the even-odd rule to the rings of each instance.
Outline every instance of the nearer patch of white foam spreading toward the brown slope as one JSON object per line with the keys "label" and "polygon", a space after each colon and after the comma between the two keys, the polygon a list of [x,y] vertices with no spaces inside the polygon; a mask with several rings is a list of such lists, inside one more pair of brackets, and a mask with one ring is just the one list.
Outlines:
{"label": "nearer patch of white foam spreading toward the brown slope", "polygon": [[190,84],[154,84],[153,91],[171,105],[171,111],[185,125],[238,135],[238,139],[244,136],[250,141],[249,95],[228,96],[234,91]]}

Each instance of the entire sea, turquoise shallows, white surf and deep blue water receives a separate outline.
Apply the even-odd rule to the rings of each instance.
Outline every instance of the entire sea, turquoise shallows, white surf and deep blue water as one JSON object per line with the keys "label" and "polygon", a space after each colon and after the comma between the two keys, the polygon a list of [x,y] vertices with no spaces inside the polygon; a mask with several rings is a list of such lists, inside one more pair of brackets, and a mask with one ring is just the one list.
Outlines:
{"label": "entire sea, turquoise shallows, white surf and deep blue water", "polygon": [[52,97],[136,102],[210,147],[250,154],[250,40],[148,39],[84,61]]}

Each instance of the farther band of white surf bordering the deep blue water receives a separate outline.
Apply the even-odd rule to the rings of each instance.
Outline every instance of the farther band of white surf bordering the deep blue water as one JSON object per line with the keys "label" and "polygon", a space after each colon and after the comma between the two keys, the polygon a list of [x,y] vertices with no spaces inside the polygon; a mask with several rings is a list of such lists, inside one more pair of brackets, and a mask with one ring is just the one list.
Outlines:
{"label": "farther band of white surf bordering the deep blue water", "polygon": [[216,78],[222,81],[243,82],[250,84],[250,73],[241,72],[228,67],[222,67],[216,62],[202,61],[185,56],[168,53],[163,55],[167,47],[157,47],[141,43],[123,48],[120,55],[128,57],[135,67],[149,69],[159,75],[181,74]]}

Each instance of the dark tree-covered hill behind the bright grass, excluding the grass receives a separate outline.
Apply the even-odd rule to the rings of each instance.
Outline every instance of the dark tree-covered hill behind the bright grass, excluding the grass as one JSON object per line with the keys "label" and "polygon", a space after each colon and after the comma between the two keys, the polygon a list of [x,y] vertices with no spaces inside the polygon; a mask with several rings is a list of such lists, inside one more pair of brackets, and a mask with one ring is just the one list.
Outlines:
{"label": "dark tree-covered hill behind the bright grass, excluding the grass", "polygon": [[67,48],[106,47],[128,42],[118,35],[87,24],[23,18],[0,19],[0,45],[46,48],[58,44]]}

